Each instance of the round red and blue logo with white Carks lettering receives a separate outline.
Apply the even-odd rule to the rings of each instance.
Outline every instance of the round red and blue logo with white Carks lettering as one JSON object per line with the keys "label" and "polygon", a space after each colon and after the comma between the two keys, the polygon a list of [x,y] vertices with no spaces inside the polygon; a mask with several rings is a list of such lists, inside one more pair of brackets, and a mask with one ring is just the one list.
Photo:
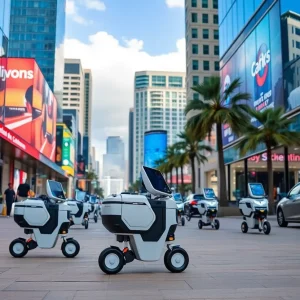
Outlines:
{"label": "round red and blue logo with white Carks lettering", "polygon": [[271,51],[266,44],[262,44],[258,50],[256,61],[252,63],[251,74],[256,77],[258,86],[263,86],[269,72]]}

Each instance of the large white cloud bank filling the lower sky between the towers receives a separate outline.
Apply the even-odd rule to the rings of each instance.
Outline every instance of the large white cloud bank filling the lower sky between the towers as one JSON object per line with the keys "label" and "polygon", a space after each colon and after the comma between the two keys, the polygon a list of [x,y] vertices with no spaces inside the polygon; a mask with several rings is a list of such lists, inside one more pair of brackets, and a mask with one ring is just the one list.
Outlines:
{"label": "large white cloud bank filling the lower sky between the towers", "polygon": [[127,145],[129,108],[133,107],[134,73],[143,70],[185,71],[185,40],[177,50],[152,56],[143,41],[127,39],[125,46],[107,32],[98,32],[85,44],[67,39],[65,57],[80,58],[93,72],[92,143],[102,153],[109,135],[120,135]]}

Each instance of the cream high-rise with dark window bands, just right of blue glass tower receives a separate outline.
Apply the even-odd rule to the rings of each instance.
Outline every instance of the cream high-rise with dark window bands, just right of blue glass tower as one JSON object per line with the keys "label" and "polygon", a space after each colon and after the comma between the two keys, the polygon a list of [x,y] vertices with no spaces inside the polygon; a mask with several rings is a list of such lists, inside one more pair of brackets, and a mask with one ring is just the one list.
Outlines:
{"label": "cream high-rise with dark window bands, just right of blue glass tower", "polygon": [[80,59],[65,59],[63,109],[76,109],[79,132],[84,133],[84,73]]}

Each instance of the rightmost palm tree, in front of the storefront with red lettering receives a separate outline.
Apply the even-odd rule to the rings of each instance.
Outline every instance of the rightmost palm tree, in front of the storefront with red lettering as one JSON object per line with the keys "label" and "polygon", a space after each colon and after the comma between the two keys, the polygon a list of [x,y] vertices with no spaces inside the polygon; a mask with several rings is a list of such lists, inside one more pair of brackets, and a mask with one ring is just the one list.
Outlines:
{"label": "rightmost palm tree, in front of the storefront with red lettering", "polygon": [[240,149],[241,156],[245,156],[248,151],[255,151],[259,144],[265,145],[267,149],[268,200],[272,214],[274,211],[272,148],[300,145],[300,133],[290,130],[293,119],[285,117],[281,107],[268,108],[263,112],[250,110],[249,113],[262,126],[256,127],[249,123],[244,138],[236,147]]}

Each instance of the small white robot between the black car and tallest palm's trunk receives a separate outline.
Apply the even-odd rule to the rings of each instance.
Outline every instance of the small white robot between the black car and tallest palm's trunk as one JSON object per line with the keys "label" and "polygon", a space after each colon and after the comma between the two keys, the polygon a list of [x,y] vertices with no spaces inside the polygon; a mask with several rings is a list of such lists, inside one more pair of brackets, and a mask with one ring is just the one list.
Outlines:
{"label": "small white robot between the black car and tallest palm's trunk", "polygon": [[203,226],[211,226],[218,230],[220,228],[220,221],[217,219],[219,203],[214,190],[211,188],[204,188],[203,197],[204,199],[199,200],[197,204],[200,214],[198,227],[199,229],[202,229]]}

